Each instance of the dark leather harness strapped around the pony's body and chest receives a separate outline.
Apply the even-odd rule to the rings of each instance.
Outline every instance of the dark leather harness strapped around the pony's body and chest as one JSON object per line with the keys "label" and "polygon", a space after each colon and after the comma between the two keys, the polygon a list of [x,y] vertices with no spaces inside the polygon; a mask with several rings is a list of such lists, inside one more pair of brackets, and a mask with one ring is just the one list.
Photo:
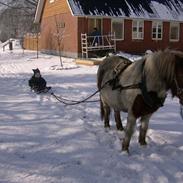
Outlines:
{"label": "dark leather harness strapped around the pony's body and chest", "polygon": [[[160,98],[158,97],[156,92],[148,92],[147,85],[146,85],[146,75],[144,72],[146,59],[143,60],[142,63],[142,78],[141,82],[123,86],[119,83],[119,77],[123,73],[123,71],[132,64],[131,61],[125,60],[124,62],[120,62],[113,70],[113,79],[109,80],[108,83],[112,87],[112,90],[119,89],[120,92],[122,90],[127,89],[140,89],[141,96],[143,98],[144,103],[151,109],[158,109],[159,107],[163,106],[166,97]],[[183,92],[183,91],[182,91]]]}

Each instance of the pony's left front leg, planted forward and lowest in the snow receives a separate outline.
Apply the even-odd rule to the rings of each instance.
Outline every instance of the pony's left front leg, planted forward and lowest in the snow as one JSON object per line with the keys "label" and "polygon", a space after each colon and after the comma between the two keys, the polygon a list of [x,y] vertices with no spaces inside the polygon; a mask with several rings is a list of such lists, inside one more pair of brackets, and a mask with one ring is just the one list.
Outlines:
{"label": "pony's left front leg, planted forward and lowest in the snow", "polygon": [[134,127],[136,123],[136,118],[132,113],[128,113],[128,118],[127,118],[127,125],[126,125],[126,130],[125,130],[125,138],[123,139],[122,143],[122,151],[127,151],[129,152],[129,145],[130,145],[130,140],[133,135]]}

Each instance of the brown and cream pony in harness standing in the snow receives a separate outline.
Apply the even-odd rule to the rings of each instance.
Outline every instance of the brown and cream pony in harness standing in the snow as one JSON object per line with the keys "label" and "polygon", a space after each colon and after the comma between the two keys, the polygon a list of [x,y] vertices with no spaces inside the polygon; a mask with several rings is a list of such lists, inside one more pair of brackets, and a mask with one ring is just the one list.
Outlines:
{"label": "brown and cream pony in harness standing in the snow", "polygon": [[97,86],[105,127],[110,127],[113,109],[117,129],[124,130],[120,111],[128,113],[122,151],[129,152],[136,120],[140,118],[139,143],[146,145],[149,120],[163,106],[168,91],[183,104],[183,53],[166,49],[133,63],[120,56],[107,57],[99,65]]}

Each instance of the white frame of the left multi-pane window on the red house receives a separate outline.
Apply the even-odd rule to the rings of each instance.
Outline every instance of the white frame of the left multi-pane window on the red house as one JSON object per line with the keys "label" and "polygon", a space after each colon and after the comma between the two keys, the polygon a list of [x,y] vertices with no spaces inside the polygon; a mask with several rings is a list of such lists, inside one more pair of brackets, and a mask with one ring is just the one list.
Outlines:
{"label": "white frame of the left multi-pane window on the red house", "polygon": [[[136,25],[134,25],[136,23]],[[142,23],[142,32],[139,31],[139,28],[141,27],[140,24]],[[134,36],[133,29],[136,27],[136,35]],[[141,36],[142,34],[142,36]],[[144,39],[144,20],[133,20],[132,21],[132,39],[133,40],[143,40]]]}

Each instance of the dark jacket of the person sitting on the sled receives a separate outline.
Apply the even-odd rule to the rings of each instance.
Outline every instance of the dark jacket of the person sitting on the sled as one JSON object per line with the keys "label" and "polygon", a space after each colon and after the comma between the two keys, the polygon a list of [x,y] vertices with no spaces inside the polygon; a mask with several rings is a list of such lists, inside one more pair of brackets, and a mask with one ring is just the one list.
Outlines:
{"label": "dark jacket of the person sitting on the sled", "polygon": [[32,76],[29,80],[29,86],[32,90],[41,91],[46,88],[46,81],[42,77],[36,78],[35,76]]}

